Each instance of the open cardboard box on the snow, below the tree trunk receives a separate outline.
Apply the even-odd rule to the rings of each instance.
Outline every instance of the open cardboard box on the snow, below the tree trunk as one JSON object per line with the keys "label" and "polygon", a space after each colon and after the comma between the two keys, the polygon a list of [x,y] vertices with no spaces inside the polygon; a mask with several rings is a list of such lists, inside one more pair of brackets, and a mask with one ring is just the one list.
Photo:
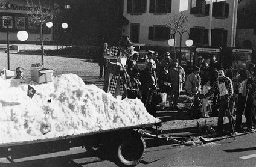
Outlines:
{"label": "open cardboard box on the snow, below the tree trunk", "polygon": [[37,83],[47,83],[53,81],[53,72],[54,70],[42,69],[40,67],[31,67],[31,80]]}

